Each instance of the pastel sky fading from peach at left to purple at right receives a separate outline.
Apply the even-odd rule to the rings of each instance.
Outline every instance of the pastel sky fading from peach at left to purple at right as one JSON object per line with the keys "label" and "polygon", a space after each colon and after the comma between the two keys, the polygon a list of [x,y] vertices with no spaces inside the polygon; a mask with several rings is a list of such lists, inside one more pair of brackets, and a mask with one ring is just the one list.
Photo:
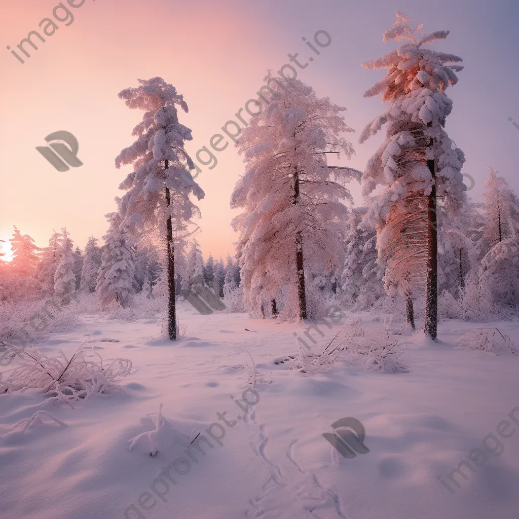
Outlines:
{"label": "pastel sky fading from peach at left to purple at right", "polygon": [[[519,131],[508,120],[519,123],[516,0],[86,0],[71,9],[73,23],[57,22],[59,30],[21,64],[6,46],[16,48],[40,20],[52,17],[57,4],[16,0],[0,6],[0,239],[8,240],[16,225],[44,246],[53,228],[66,226],[83,249],[90,235],[105,234],[104,214],[116,209],[114,197],[122,194],[117,187],[128,171],[115,169],[114,158],[133,142],[131,131],[142,117],[118,99],[121,89],[154,76],[172,83],[189,105],[181,122],[193,129],[186,148],[194,157],[213,134],[222,133],[227,120],[236,119],[248,99],[257,97],[268,69],[289,63],[288,53],[299,52],[302,63],[312,56],[301,38],[311,40],[320,29],[330,33],[332,43],[298,77],[319,96],[348,108],[344,115],[356,130],[349,138],[357,155],[339,163],[363,169],[383,136],[363,145],[358,136],[385,105],[362,94],[385,71],[365,71],[361,63],[397,45],[381,38],[397,9],[413,23],[423,23],[424,31],[450,30],[434,48],[464,60],[458,85],[447,90],[454,110],[446,130],[466,154],[463,172],[476,182],[471,195],[480,199],[487,166],[519,192]],[[36,151],[47,134],[58,130],[76,136],[84,166],[58,172]],[[229,197],[243,163],[230,145],[217,160],[197,178],[206,192],[197,222],[206,257],[210,251],[216,257],[234,253],[237,239],[229,225],[237,211],[230,210]],[[360,203],[358,184],[351,190]]]}

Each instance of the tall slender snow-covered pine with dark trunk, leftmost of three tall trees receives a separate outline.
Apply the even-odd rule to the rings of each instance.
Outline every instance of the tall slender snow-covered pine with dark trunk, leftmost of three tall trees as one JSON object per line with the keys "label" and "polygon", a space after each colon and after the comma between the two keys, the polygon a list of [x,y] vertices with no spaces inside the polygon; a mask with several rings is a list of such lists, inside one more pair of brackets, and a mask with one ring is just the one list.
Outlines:
{"label": "tall slender snow-covered pine with dark trunk, leftmost of three tall trees", "polygon": [[[145,110],[142,122],[133,130],[137,140],[115,159],[116,167],[132,164],[134,171],[119,186],[127,193],[121,198],[122,225],[132,233],[158,229],[166,244],[168,264],[168,334],[176,339],[175,264],[173,214],[190,221],[200,211],[190,201],[205,196],[189,172],[193,160],[184,149],[192,140],[191,130],[179,122],[175,105],[187,112],[187,104],[175,87],[161,77],[139,79],[137,88],[119,92],[130,108]],[[187,167],[184,166],[187,163]]]}

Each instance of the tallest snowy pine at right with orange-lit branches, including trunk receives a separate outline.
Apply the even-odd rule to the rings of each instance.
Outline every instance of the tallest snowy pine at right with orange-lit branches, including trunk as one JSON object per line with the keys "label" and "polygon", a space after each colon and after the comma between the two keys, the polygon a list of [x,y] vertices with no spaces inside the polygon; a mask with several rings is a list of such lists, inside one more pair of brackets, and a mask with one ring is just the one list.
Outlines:
{"label": "tallest snowy pine at right with orange-lit branches, including trunk", "polygon": [[[384,79],[364,93],[382,93],[391,105],[362,132],[363,143],[386,126],[386,141],[368,161],[363,175],[363,194],[377,184],[386,188],[371,204],[365,222],[377,229],[377,248],[386,258],[386,286],[395,285],[411,302],[413,291],[426,277],[425,332],[433,339],[438,324],[437,207],[455,213],[464,200],[461,167],[465,158],[443,127],[452,110],[446,96],[455,85],[455,72],[463,67],[447,65],[458,56],[426,49],[423,45],[445,39],[448,31],[435,31],[418,39],[409,20],[397,11],[397,21],[383,35],[408,40],[382,58],[363,63],[367,70],[387,69]],[[441,202],[437,203],[436,198]],[[409,308],[408,308],[409,309]]]}

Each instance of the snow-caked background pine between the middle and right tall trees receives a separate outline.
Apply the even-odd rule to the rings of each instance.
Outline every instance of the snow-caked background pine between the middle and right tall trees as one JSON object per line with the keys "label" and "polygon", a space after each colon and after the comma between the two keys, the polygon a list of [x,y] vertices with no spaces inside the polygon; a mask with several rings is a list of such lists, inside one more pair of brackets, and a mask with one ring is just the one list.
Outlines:
{"label": "snow-caked background pine between the middle and right tall trees", "polygon": [[346,260],[340,278],[341,297],[358,310],[371,308],[383,294],[383,270],[377,263],[374,229],[359,229],[367,207],[352,207],[344,238]]}

